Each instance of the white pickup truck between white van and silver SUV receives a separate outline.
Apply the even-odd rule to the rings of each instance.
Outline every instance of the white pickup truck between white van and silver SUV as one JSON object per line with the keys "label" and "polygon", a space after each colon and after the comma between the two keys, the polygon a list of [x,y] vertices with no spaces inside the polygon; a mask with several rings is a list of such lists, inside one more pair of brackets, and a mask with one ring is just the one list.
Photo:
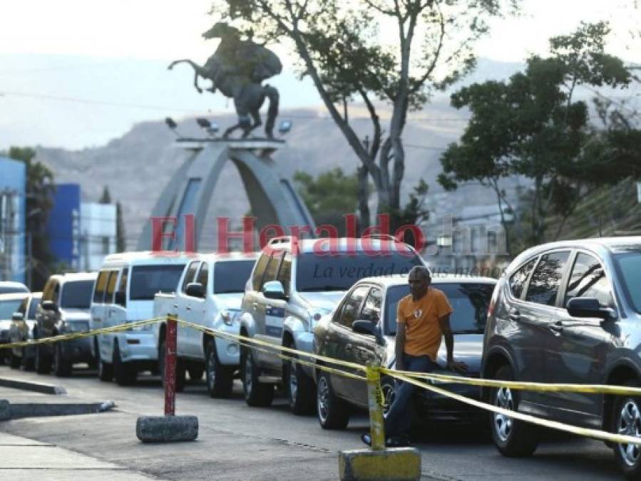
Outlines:
{"label": "white pickup truck between white van and silver SUV", "polygon": [[[156,294],[153,316],[175,314],[178,319],[233,334],[240,333],[240,304],[245,284],[256,261],[255,254],[196,254],[185,266],[175,294]],[[155,329],[161,374],[164,371],[165,324]],[[192,381],[207,376],[212,398],[229,395],[240,364],[237,343],[178,324],[176,389],[185,386],[185,372]],[[164,376],[163,376],[164,380]]]}

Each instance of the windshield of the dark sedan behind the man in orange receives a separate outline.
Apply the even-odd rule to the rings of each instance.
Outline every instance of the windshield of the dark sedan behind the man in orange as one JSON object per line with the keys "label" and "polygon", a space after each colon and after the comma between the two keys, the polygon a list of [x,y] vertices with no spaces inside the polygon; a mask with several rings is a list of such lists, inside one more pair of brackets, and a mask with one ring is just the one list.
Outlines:
{"label": "windshield of the dark sedan behind the man in orange", "polygon": [[[450,302],[453,313],[450,326],[455,334],[482,334],[488,316],[488,306],[494,290],[494,284],[480,282],[452,282],[433,287],[443,291]],[[396,307],[404,296],[409,294],[408,286],[394,286],[388,289],[385,300],[386,333],[396,334]]]}

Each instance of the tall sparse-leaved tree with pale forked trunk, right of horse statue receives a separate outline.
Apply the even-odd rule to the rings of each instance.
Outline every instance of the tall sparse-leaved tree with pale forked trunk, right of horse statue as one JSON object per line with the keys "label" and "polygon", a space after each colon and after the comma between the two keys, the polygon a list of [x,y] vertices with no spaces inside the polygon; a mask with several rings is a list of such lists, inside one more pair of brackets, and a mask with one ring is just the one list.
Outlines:
{"label": "tall sparse-leaved tree with pale forked trunk, right of horse statue", "polygon": [[[217,0],[212,12],[235,21],[248,36],[288,41],[325,107],[361,162],[377,197],[378,213],[399,227],[405,170],[402,135],[410,110],[423,107],[436,89],[451,86],[473,68],[473,43],[499,16],[503,0]],[[509,4],[516,9],[518,0]],[[393,32],[390,41],[379,33]],[[371,120],[364,145],[349,123],[361,101]],[[391,105],[383,128],[380,105]],[[364,190],[361,189],[361,192]],[[411,200],[410,200],[411,202]],[[361,200],[361,207],[366,202]],[[414,222],[416,219],[412,219]],[[361,222],[369,223],[366,210]]]}

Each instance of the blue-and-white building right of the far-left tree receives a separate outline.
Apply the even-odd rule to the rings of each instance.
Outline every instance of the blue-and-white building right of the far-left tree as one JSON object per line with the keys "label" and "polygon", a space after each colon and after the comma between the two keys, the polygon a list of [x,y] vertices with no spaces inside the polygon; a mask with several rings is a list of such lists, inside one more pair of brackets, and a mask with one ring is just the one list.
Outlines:
{"label": "blue-and-white building right of the far-left tree", "polygon": [[51,254],[72,271],[98,270],[116,252],[116,205],[82,202],[78,184],[56,185],[47,234]]}

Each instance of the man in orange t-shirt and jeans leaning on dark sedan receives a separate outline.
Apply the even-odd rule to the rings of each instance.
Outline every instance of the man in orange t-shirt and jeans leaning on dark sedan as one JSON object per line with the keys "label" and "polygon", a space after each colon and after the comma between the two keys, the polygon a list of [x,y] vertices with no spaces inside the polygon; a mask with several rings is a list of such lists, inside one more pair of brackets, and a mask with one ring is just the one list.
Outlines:
{"label": "man in orange t-shirt and jeans leaning on dark sedan", "polygon": [[[430,287],[431,274],[424,266],[409,271],[410,294],[399,301],[396,314],[396,370],[429,373],[436,367],[436,355],[445,337],[447,367],[463,373],[467,366],[453,358],[454,337],[450,329],[452,307],[443,291]],[[415,386],[396,381],[396,397],[385,418],[386,445],[409,445],[411,410]],[[362,436],[371,445],[369,434]]]}

